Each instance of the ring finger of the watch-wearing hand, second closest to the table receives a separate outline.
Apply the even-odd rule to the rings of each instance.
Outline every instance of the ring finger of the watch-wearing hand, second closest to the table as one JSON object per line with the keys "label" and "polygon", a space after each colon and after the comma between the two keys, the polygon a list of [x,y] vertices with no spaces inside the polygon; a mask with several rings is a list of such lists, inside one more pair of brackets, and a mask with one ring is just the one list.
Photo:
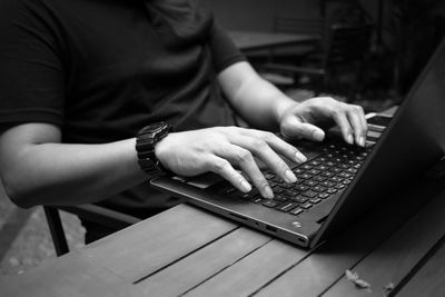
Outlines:
{"label": "ring finger of the watch-wearing hand, second closest to the table", "polygon": [[249,150],[235,145],[222,145],[219,146],[217,156],[229,160],[231,164],[236,164],[247,175],[263,197],[274,198],[274,192],[269,184],[259,170]]}

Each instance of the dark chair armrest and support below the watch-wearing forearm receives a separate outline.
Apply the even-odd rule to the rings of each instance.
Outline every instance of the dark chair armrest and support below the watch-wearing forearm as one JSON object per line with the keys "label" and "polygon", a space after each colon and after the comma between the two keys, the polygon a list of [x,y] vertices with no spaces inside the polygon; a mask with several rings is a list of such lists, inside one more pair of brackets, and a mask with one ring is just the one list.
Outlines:
{"label": "dark chair armrest and support below the watch-wearing forearm", "polygon": [[65,236],[63,226],[60,219],[59,210],[63,210],[79,218],[87,219],[102,226],[122,229],[141,219],[118,212],[97,205],[79,205],[79,206],[43,206],[44,216],[47,217],[48,227],[55,244],[57,256],[62,256],[69,251],[67,238]]}

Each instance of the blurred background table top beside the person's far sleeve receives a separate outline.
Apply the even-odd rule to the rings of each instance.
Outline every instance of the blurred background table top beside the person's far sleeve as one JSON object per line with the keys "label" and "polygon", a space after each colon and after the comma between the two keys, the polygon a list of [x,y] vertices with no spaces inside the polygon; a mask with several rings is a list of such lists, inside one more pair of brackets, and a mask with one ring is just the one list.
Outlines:
{"label": "blurred background table top beside the person's far sleeve", "polygon": [[320,37],[316,34],[288,34],[256,31],[229,31],[228,34],[234,40],[235,44],[244,52],[287,46],[310,44],[320,39]]}

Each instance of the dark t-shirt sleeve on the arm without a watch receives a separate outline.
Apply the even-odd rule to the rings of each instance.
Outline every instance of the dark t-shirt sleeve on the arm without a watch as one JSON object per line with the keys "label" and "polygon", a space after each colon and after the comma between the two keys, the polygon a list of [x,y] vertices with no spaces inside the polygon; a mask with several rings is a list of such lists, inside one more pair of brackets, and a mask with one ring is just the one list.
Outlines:
{"label": "dark t-shirt sleeve on the arm without a watch", "polygon": [[246,60],[230,37],[216,22],[211,28],[210,51],[217,73],[236,62]]}

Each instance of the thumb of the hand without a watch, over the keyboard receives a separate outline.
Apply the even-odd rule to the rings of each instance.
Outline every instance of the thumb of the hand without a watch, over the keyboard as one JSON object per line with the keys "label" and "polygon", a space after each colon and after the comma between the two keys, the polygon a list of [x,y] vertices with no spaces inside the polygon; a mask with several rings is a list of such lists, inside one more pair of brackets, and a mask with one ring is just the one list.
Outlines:
{"label": "thumb of the hand without a watch, over the keyboard", "polygon": [[315,125],[301,122],[297,117],[288,117],[281,123],[281,135],[287,138],[305,138],[314,141],[325,139],[325,131]]}

